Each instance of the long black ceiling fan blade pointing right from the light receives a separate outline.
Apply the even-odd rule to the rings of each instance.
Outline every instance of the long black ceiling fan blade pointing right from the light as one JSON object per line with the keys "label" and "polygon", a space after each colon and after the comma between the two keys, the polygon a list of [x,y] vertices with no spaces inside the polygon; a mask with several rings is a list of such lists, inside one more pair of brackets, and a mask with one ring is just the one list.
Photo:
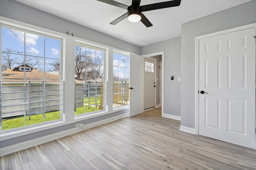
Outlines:
{"label": "long black ceiling fan blade pointing right from the light", "polygon": [[155,4],[148,4],[148,5],[143,5],[141,6],[141,11],[151,11],[151,10],[158,10],[162,8],[170,8],[174,6],[180,6],[180,1],[181,0],[172,0],[172,1],[166,1],[166,2],[159,2]]}

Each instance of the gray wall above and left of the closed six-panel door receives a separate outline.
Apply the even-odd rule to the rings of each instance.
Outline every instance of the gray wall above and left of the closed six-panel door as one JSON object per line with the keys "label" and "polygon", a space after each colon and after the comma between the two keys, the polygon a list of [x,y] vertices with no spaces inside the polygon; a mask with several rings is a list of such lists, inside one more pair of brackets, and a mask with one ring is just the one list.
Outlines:
{"label": "gray wall above and left of the closed six-panel door", "polygon": [[182,24],[181,125],[195,128],[195,37],[256,22],[256,0]]}

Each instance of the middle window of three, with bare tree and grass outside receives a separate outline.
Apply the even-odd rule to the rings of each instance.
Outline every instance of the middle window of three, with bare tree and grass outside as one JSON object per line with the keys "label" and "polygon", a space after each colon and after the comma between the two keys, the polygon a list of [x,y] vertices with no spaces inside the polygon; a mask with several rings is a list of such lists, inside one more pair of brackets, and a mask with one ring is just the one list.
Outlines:
{"label": "middle window of three, with bare tree and grass outside", "polygon": [[75,46],[75,115],[105,111],[105,50],[85,44]]}

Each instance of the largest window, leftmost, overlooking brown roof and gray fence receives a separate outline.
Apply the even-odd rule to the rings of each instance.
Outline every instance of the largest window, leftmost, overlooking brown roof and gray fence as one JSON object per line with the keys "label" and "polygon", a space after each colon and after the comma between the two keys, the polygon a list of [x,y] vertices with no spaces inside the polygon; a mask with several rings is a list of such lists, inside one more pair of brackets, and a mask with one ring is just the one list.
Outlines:
{"label": "largest window, leftmost, overlooking brown roof and gray fence", "polygon": [[62,39],[9,26],[1,31],[1,131],[62,120]]}

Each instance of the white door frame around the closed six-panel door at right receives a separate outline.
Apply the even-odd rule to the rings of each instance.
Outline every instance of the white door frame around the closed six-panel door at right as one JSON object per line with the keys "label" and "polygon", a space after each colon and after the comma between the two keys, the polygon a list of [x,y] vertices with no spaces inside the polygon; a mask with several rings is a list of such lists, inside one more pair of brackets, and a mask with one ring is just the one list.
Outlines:
{"label": "white door frame around the closed six-panel door at right", "polygon": [[[251,23],[248,25],[243,25],[240,27],[235,27],[235,28],[226,29],[223,31],[218,31],[218,32],[195,37],[195,134],[196,135],[199,134],[199,94],[198,94],[199,92],[199,40],[203,38],[213,37],[216,35],[226,34],[226,33],[240,31],[240,30],[249,29],[249,28],[256,28],[256,23]],[[254,122],[254,125],[256,128],[255,122]],[[256,135],[255,135],[255,147],[256,147]]]}

